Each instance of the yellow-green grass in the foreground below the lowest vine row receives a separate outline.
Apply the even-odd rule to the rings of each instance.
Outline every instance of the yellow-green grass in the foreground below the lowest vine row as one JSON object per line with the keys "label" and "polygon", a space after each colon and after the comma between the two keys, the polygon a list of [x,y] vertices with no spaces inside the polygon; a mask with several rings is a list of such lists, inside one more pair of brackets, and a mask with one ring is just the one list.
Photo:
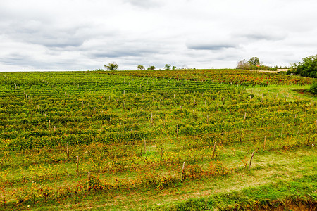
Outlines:
{"label": "yellow-green grass in the foreground below the lowest vine row", "polygon": [[[240,155],[236,157],[239,159]],[[228,161],[232,159],[228,158]],[[184,183],[172,184],[163,190],[120,188],[87,196],[67,196],[46,202],[39,200],[35,204],[29,201],[19,209],[193,210],[197,207],[201,210],[202,207],[212,207],[233,210],[236,205],[246,209],[248,206],[265,207],[275,200],[281,203],[284,200],[296,201],[297,198],[316,203],[316,160],[316,149],[311,146],[292,151],[259,152],[254,155],[251,170],[244,170],[241,163],[236,163],[235,171],[223,177],[186,179]],[[51,185],[58,185],[58,182]]]}

